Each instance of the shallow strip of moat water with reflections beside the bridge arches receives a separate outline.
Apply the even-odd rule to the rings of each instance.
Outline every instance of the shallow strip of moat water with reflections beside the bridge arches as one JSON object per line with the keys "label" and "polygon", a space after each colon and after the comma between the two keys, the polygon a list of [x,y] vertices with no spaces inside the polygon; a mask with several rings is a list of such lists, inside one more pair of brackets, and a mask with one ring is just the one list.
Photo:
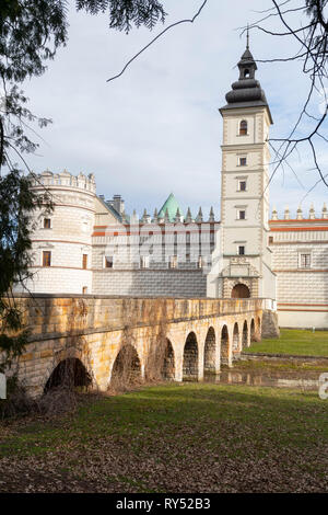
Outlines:
{"label": "shallow strip of moat water with reflections beside the bridge arches", "polygon": [[251,386],[270,386],[281,388],[302,388],[306,390],[316,390],[319,385],[318,379],[305,378],[278,378],[269,374],[249,374],[233,370],[222,370],[218,375],[206,375],[204,382],[222,382],[225,385],[251,385]]}

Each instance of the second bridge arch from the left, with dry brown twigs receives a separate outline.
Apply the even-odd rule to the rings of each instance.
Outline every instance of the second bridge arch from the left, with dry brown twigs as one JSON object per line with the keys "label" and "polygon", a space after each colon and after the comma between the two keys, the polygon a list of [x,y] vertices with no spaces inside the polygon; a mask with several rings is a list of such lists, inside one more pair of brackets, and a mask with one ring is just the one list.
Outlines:
{"label": "second bridge arch from the left, with dry brown twigs", "polygon": [[127,388],[140,382],[141,379],[141,362],[137,350],[130,343],[122,345],[112,367],[110,387]]}

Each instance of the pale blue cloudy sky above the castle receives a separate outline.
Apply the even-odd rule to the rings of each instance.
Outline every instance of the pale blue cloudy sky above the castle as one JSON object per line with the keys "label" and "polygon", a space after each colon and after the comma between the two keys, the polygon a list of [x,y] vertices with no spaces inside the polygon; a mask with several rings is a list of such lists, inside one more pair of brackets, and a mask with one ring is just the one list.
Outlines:
{"label": "pale blue cloudy sky above the castle", "polygon": [[[73,2],[72,8],[73,8]],[[192,18],[201,0],[163,0],[165,26]],[[32,112],[52,124],[37,130],[39,148],[28,156],[37,173],[67,169],[72,174],[94,173],[97,194],[121,194],[126,210],[152,214],[173,192],[183,210],[204,217],[211,206],[220,216],[222,118],[218,111],[238,77],[236,64],[245,49],[241,27],[262,16],[270,0],[208,0],[194,24],[173,27],[127,69],[106,82],[150,42],[152,32],[134,28],[129,35],[108,28],[107,14],[69,13],[69,42],[57,52],[44,76],[23,84]],[[269,25],[281,30],[278,21]],[[271,25],[271,26],[273,26]],[[291,39],[272,38],[254,30],[250,49],[255,59],[285,56],[297,47]],[[274,125],[271,137],[288,135],[306,99],[308,79],[300,62],[258,62],[261,82]],[[318,105],[314,105],[319,115]],[[324,172],[328,152],[318,141]],[[270,204],[282,217],[292,216],[303,201],[304,213],[314,203],[319,216],[328,188],[319,183],[308,148],[278,170],[270,185]],[[301,184],[300,184],[301,182]]]}

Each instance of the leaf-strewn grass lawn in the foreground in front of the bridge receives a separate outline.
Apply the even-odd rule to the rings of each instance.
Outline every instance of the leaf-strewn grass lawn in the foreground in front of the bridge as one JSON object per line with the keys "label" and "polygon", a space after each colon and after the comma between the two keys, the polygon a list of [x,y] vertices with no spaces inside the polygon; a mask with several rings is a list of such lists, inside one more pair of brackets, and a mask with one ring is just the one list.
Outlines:
{"label": "leaf-strewn grass lawn in the foreground in front of the bridge", "polygon": [[168,384],[0,425],[1,492],[327,492],[317,392]]}

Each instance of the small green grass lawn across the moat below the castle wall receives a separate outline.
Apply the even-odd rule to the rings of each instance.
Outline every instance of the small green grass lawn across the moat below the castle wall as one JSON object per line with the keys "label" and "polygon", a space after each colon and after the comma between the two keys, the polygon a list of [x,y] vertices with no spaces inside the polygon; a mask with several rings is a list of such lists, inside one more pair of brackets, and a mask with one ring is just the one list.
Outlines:
{"label": "small green grass lawn across the moat below the castle wall", "polygon": [[328,331],[281,329],[280,339],[254,342],[243,352],[328,357]]}

